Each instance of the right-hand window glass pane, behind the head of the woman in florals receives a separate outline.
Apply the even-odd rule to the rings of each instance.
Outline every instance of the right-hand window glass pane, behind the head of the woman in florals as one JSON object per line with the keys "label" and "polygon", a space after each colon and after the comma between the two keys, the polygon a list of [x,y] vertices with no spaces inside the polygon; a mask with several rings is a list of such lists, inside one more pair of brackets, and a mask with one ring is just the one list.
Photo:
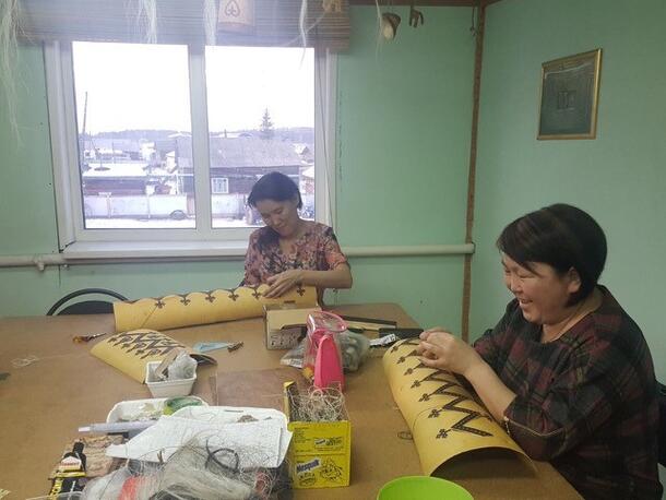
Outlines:
{"label": "right-hand window glass pane, behind the head of the woman in florals", "polygon": [[213,227],[263,225],[247,198],[275,170],[314,218],[314,50],[206,47],[205,57]]}

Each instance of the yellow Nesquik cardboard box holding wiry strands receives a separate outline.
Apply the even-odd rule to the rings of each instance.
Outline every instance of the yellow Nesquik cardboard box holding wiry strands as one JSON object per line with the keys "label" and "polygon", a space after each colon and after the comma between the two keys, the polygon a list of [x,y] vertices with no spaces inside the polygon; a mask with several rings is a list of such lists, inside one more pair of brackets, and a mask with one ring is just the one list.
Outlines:
{"label": "yellow Nesquik cardboard box holding wiry strands", "polygon": [[[285,393],[289,382],[285,383]],[[294,488],[349,486],[352,424],[340,421],[292,421],[288,400],[285,413],[294,432],[287,454]]]}

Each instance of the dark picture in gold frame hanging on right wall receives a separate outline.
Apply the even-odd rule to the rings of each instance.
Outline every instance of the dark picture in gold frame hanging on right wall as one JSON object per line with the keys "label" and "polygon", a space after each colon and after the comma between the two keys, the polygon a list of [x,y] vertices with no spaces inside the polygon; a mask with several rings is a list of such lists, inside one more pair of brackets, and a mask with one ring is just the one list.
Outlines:
{"label": "dark picture in gold frame hanging on right wall", "polygon": [[537,139],[594,139],[602,49],[542,64]]}

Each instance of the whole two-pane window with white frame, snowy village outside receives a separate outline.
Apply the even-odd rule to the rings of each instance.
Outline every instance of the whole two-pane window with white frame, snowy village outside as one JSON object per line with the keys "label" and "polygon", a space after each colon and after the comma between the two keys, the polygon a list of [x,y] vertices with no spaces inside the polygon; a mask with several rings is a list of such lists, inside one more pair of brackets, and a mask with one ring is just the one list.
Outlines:
{"label": "whole two-pane window with white frame, snowy village outside", "polygon": [[247,197],[274,170],[299,184],[304,217],[332,223],[332,57],[83,41],[45,50],[61,248],[246,240],[261,224]]}

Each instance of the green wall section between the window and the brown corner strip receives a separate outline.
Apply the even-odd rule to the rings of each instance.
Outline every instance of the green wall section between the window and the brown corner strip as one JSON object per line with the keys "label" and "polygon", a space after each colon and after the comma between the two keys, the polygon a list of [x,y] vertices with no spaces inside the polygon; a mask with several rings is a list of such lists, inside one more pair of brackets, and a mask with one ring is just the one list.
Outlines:
{"label": "green wall section between the window and the brown corner strip", "polygon": [[[352,10],[338,58],[337,226],[343,245],[462,243],[474,39],[468,9],[424,9],[377,44],[374,8]],[[341,302],[396,301],[424,326],[459,328],[463,258],[354,259]]]}

